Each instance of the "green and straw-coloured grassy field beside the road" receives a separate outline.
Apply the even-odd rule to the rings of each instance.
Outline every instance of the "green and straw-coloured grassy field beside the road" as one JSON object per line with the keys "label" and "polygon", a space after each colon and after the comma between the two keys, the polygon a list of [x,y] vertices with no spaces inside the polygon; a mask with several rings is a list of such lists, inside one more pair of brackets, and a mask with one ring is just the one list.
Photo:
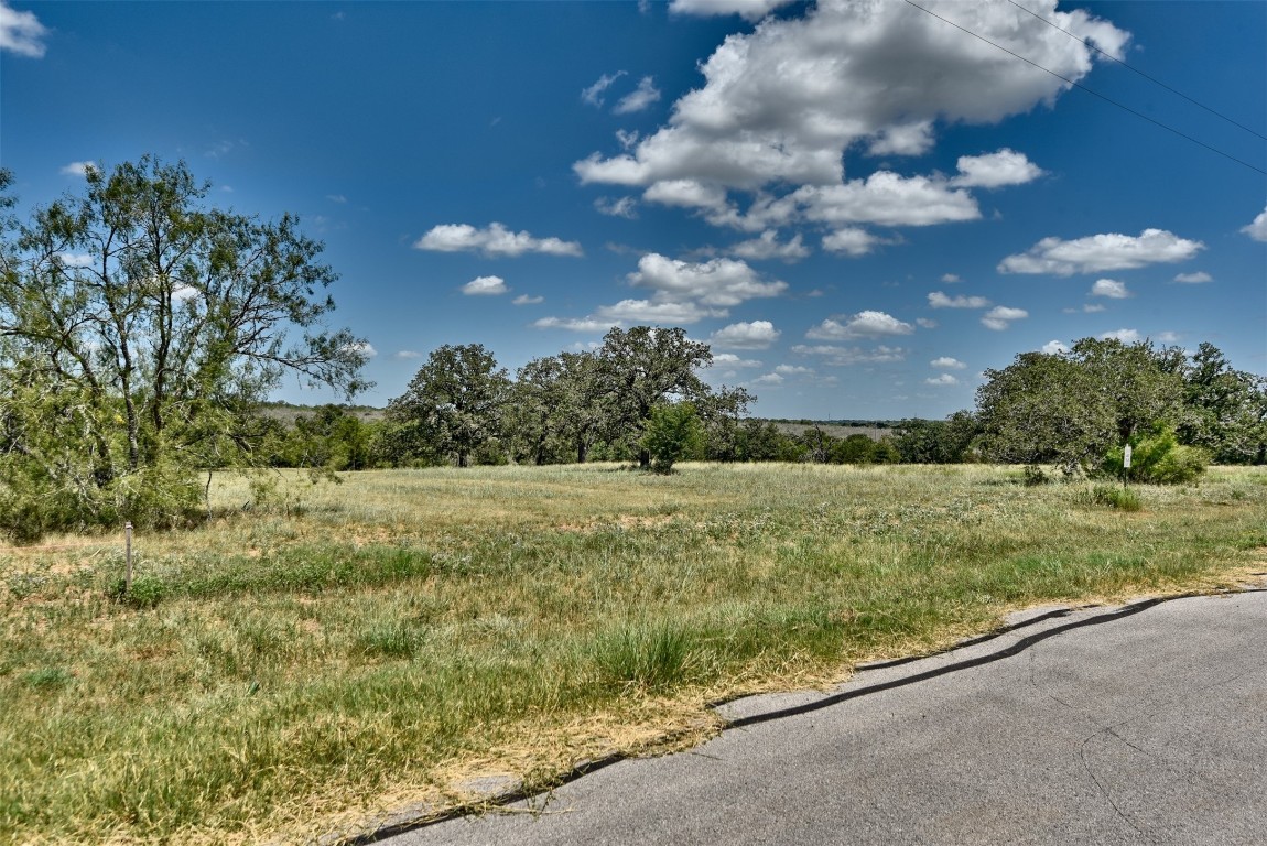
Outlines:
{"label": "green and straw-coloured grassy field beside the road", "polygon": [[1010,609],[1267,569],[1267,470],[1140,488],[982,466],[218,476],[219,517],[0,551],[0,841],[303,841],[470,779],[549,785]]}

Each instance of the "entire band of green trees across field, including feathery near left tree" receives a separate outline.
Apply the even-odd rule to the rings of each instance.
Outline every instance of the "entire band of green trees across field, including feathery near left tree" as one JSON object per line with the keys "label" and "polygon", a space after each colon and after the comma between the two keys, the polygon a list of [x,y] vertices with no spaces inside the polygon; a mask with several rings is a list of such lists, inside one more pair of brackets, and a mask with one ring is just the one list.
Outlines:
{"label": "entire band of green trees across field, including feathery near left tree", "polygon": [[480,344],[443,346],[381,420],[327,407],[286,427],[261,413],[286,374],[348,400],[370,386],[369,344],[326,327],[337,275],[296,218],[210,206],[184,162],[150,156],[89,167],[81,194],[28,220],[11,184],[0,168],[0,533],[14,540],[196,522],[224,467],[1002,461],[1039,479],[1111,472],[1130,446],[1135,477],[1181,481],[1207,461],[1267,462],[1262,376],[1209,343],[1095,338],[1021,353],[986,371],[974,409],[878,441],[753,419],[748,390],[701,376],[706,343],[645,325],[513,379]]}

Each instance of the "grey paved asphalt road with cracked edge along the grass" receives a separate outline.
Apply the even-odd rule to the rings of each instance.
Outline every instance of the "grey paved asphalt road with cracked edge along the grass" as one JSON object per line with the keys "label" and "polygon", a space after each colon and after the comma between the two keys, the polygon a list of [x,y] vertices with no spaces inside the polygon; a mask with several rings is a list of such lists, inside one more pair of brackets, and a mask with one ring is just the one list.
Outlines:
{"label": "grey paved asphalt road with cracked edge along the grass", "polygon": [[1267,593],[1049,617],[725,708],[740,726],[691,752],[383,842],[1267,843]]}

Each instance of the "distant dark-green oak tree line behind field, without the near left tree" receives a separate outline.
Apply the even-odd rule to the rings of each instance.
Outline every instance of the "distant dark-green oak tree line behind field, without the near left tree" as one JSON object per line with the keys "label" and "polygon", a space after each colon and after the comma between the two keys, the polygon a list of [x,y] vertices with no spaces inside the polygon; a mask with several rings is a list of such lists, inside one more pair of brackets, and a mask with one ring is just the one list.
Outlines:
{"label": "distant dark-green oak tree line behind field, without the near left tree", "polygon": [[817,424],[793,434],[750,418],[751,394],[713,390],[699,377],[710,361],[708,347],[683,329],[651,327],[612,329],[599,350],[537,358],[514,379],[480,344],[446,346],[381,420],[327,407],[302,418],[274,460],[333,461],[337,470],[592,458],[644,467],[684,458],[995,461],[1026,465],[1040,479],[1115,474],[1130,445],[1140,481],[1186,481],[1210,461],[1267,462],[1267,380],[1234,370],[1210,343],[1187,355],[1083,338],[1067,352],[1021,353],[986,371],[976,409],[900,420],[879,438],[832,437]]}

